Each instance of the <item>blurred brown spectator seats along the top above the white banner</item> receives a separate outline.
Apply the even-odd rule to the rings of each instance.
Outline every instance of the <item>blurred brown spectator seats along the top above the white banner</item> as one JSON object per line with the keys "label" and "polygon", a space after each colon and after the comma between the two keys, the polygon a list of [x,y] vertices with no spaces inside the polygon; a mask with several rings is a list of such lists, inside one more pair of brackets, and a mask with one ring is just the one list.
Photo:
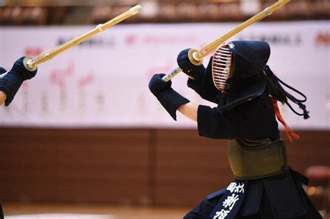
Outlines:
{"label": "blurred brown spectator seats along the top above the white banner", "polygon": [[[260,0],[260,10],[276,0]],[[141,2],[143,4],[143,1]],[[127,1],[98,6],[0,7],[0,25],[103,24],[133,5]],[[148,16],[132,16],[124,23],[243,22],[240,0],[159,1]],[[80,10],[86,8],[86,10]],[[81,15],[84,14],[84,15]],[[149,16],[152,15],[152,16]],[[330,0],[294,0],[267,17],[267,21],[329,19]]]}

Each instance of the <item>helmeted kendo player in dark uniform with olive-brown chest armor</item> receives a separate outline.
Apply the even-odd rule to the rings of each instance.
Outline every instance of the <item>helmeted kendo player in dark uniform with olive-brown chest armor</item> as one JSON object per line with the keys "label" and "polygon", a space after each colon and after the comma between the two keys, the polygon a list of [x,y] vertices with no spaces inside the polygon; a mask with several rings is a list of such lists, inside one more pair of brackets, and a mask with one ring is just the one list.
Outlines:
{"label": "helmeted kendo player in dark uniform with olive-brown chest armor", "polygon": [[[208,195],[184,219],[322,219],[302,184],[308,179],[288,166],[285,143],[276,118],[285,125],[288,138],[299,138],[281,117],[277,101],[308,118],[302,102],[306,96],[278,79],[267,65],[267,42],[233,41],[223,44],[203,65],[193,65],[189,49],[178,55],[178,65],[188,74],[187,86],[217,107],[189,102],[155,74],[150,91],[176,120],[176,111],[198,123],[200,136],[228,139],[228,156],[234,181]],[[304,99],[290,95],[283,86]],[[294,111],[288,100],[302,113]]]}

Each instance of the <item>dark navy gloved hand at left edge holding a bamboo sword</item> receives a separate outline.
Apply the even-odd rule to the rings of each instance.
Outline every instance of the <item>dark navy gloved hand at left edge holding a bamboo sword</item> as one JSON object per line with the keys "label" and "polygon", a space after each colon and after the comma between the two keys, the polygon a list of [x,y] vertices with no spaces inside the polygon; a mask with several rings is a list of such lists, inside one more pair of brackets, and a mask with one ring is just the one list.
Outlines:
{"label": "dark navy gloved hand at left edge holding a bamboo sword", "polygon": [[32,79],[37,74],[37,70],[33,72],[26,70],[23,65],[24,58],[25,56],[17,59],[12,69],[0,79],[0,90],[7,95],[5,106],[8,106],[13,101],[23,81]]}

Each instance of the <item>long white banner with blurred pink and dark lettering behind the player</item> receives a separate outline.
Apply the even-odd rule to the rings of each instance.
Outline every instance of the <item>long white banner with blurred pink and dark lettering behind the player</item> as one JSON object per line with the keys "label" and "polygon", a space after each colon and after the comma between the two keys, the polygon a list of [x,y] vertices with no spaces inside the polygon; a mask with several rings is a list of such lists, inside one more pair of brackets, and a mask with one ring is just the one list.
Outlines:
{"label": "long white banner with blurred pink and dark lettering behind the player", "polygon": [[[329,21],[258,23],[232,40],[266,40],[269,66],[303,92],[311,118],[281,107],[295,129],[329,129]],[[178,113],[175,122],[148,90],[151,76],[169,72],[182,49],[211,42],[237,24],[117,25],[42,63],[10,106],[0,107],[1,126],[29,127],[196,127]],[[0,66],[10,70],[22,55],[35,57],[94,26],[1,27]],[[205,58],[207,65],[209,57]],[[179,74],[173,88],[210,106],[187,88]]]}

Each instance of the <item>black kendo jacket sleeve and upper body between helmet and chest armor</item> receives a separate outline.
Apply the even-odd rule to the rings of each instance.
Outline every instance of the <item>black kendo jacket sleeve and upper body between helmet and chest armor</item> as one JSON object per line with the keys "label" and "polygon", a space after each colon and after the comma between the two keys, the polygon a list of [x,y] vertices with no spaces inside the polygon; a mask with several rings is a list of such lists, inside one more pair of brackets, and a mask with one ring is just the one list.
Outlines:
{"label": "black kendo jacket sleeve and upper body between helmet and chest armor", "polygon": [[225,112],[200,105],[197,122],[199,135],[207,138],[279,138],[274,108],[266,93]]}

